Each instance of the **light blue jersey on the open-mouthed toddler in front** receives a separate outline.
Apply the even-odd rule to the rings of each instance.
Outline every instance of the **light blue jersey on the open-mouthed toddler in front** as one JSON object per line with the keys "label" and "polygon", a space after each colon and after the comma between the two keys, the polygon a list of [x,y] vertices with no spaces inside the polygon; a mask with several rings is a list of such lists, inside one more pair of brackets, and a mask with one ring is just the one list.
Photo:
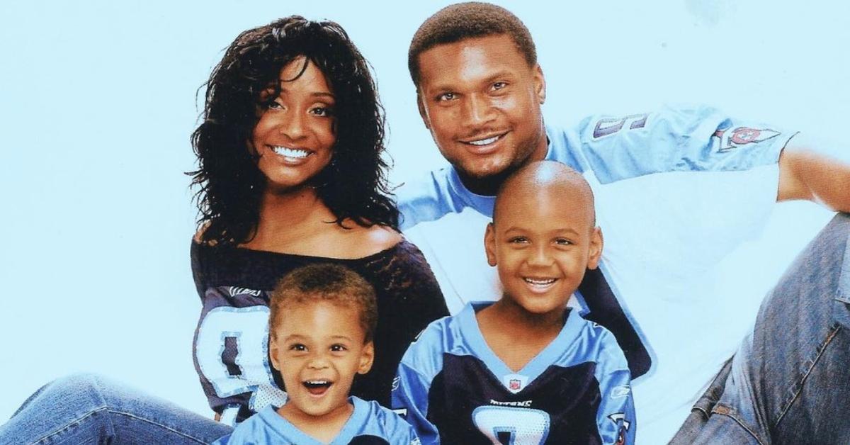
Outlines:
{"label": "light blue jersey on the open-mouthed toddler in front", "polygon": [[[354,412],[331,445],[419,445],[411,425],[377,402],[348,397]],[[304,434],[268,405],[213,445],[322,445]]]}

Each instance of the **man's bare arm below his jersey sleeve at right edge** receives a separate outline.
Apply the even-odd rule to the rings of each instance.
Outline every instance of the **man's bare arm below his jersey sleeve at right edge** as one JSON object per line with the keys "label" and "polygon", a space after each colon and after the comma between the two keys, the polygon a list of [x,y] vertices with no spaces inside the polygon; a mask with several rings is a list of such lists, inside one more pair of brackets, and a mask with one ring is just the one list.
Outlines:
{"label": "man's bare arm below his jersey sleeve at right edge", "polygon": [[777,201],[806,199],[850,212],[850,163],[813,151],[797,135],[779,156]]}

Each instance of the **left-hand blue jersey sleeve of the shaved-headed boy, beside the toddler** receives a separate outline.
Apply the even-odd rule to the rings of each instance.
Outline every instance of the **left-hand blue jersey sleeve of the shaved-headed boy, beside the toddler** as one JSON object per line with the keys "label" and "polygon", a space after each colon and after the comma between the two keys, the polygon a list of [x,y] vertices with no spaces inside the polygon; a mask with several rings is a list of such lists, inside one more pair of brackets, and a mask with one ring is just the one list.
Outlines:
{"label": "left-hand blue jersey sleeve of the shaved-headed boy, beside the toddler", "polygon": [[[408,350],[409,353],[411,350]],[[393,411],[404,417],[413,427],[422,445],[439,444],[437,427],[426,418],[429,386],[428,379],[402,360],[393,385]]]}

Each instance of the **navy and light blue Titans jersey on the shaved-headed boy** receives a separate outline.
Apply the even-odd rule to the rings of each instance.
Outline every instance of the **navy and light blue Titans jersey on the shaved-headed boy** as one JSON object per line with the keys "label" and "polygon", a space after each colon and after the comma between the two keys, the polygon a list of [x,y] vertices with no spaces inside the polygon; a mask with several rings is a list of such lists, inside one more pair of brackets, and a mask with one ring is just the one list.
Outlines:
{"label": "navy and light blue Titans jersey on the shaved-headed boy", "polygon": [[609,331],[569,313],[558,337],[513,372],[475,320],[489,304],[433,322],[399,365],[393,405],[422,443],[633,442],[628,367]]}

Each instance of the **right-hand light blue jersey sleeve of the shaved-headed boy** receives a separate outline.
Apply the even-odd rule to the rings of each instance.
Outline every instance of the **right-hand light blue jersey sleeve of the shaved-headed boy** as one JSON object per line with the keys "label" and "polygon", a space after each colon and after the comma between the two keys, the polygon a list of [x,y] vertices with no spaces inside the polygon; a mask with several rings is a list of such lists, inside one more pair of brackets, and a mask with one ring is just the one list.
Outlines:
{"label": "right-hand light blue jersey sleeve of the shaved-headed boy", "polygon": [[626,357],[613,334],[605,331],[602,339],[596,375],[602,398],[596,416],[599,436],[605,444],[633,444],[638,425]]}

